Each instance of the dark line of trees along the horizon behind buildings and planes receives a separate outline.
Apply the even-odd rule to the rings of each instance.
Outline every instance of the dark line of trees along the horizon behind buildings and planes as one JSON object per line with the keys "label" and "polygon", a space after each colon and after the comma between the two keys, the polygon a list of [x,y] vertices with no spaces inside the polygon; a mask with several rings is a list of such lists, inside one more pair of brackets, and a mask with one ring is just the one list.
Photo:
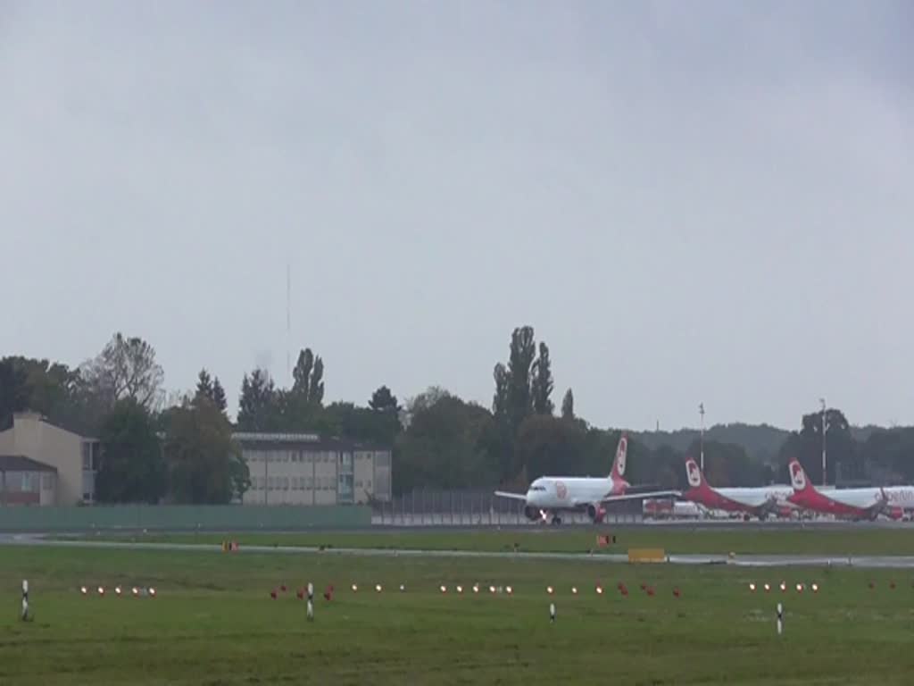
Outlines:
{"label": "dark line of trees along the horizon behind buildings and planes", "polygon": [[[364,404],[324,402],[324,360],[304,348],[288,386],[262,369],[245,373],[235,421],[218,376],[202,369],[192,391],[167,396],[164,371],[142,338],[115,334],[76,368],[26,357],[0,359],[0,429],[12,415],[42,413],[101,441],[96,498],[102,502],[225,503],[250,487],[236,431],[307,432],[393,448],[396,494],[413,489],[523,489],[543,474],[605,475],[621,431],[575,412],[569,388],[556,409],[549,348],[533,327],[511,334],[493,369],[486,407],[432,386],[402,404],[388,386]],[[704,441],[705,471],[716,486],[786,483],[797,457],[822,480],[822,413],[796,431],[745,424],[714,426]],[[914,480],[914,428],[867,427],[825,413],[828,481]],[[865,437],[864,437],[865,435]],[[780,444],[780,445],[779,445]],[[632,483],[685,488],[685,456],[698,456],[697,432],[630,434]]]}

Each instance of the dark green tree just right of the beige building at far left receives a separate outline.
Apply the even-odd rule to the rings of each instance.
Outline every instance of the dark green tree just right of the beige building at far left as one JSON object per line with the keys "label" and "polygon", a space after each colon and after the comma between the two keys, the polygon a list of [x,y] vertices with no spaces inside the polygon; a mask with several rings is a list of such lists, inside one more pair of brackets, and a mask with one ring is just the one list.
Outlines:
{"label": "dark green tree just right of the beige building at far left", "polygon": [[165,459],[152,416],[139,402],[118,401],[101,424],[101,502],[155,504],[165,495]]}

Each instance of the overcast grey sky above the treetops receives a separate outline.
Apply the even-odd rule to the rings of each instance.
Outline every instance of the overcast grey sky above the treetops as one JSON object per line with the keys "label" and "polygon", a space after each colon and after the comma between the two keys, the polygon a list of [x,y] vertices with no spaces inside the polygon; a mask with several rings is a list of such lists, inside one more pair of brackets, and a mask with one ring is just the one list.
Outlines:
{"label": "overcast grey sky above the treetops", "polygon": [[[0,354],[914,423],[909,2],[0,0]],[[294,357],[294,353],[293,353]]]}

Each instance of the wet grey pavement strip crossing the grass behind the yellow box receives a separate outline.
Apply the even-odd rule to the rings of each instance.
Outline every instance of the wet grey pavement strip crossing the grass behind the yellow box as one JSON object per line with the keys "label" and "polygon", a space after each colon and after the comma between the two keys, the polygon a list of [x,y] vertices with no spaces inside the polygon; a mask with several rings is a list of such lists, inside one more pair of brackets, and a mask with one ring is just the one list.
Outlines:
{"label": "wet grey pavement strip crossing the grass behind the yellow box", "polygon": [[[41,546],[58,548],[96,548],[115,550],[157,550],[188,552],[222,552],[221,546],[202,543],[140,543],[132,541],[53,541],[28,534],[0,535],[0,545]],[[477,552],[477,551],[417,551],[370,548],[309,548],[303,546],[246,545],[239,552],[295,555],[351,555],[354,557],[437,557],[490,558],[516,560],[568,560],[592,563],[627,563],[628,555],[614,553],[588,554],[582,552]],[[237,554],[237,553],[236,553]],[[783,566],[851,566],[860,568],[914,568],[914,556],[824,556],[824,555],[669,555],[671,564],[729,564],[741,567]]]}

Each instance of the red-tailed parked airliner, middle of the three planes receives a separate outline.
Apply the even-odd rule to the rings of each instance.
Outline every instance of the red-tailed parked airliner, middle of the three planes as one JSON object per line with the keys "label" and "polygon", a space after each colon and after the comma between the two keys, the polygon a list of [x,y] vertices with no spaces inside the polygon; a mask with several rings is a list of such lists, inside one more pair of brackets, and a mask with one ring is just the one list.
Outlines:
{"label": "red-tailed parked airliner, middle of the three planes", "polygon": [[712,488],[701,473],[701,467],[691,457],[685,460],[685,476],[688,477],[689,489],[683,493],[683,498],[707,509],[742,512],[747,520],[750,516],[760,520],[770,515],[790,517],[797,509],[790,500],[793,495],[791,486]]}

